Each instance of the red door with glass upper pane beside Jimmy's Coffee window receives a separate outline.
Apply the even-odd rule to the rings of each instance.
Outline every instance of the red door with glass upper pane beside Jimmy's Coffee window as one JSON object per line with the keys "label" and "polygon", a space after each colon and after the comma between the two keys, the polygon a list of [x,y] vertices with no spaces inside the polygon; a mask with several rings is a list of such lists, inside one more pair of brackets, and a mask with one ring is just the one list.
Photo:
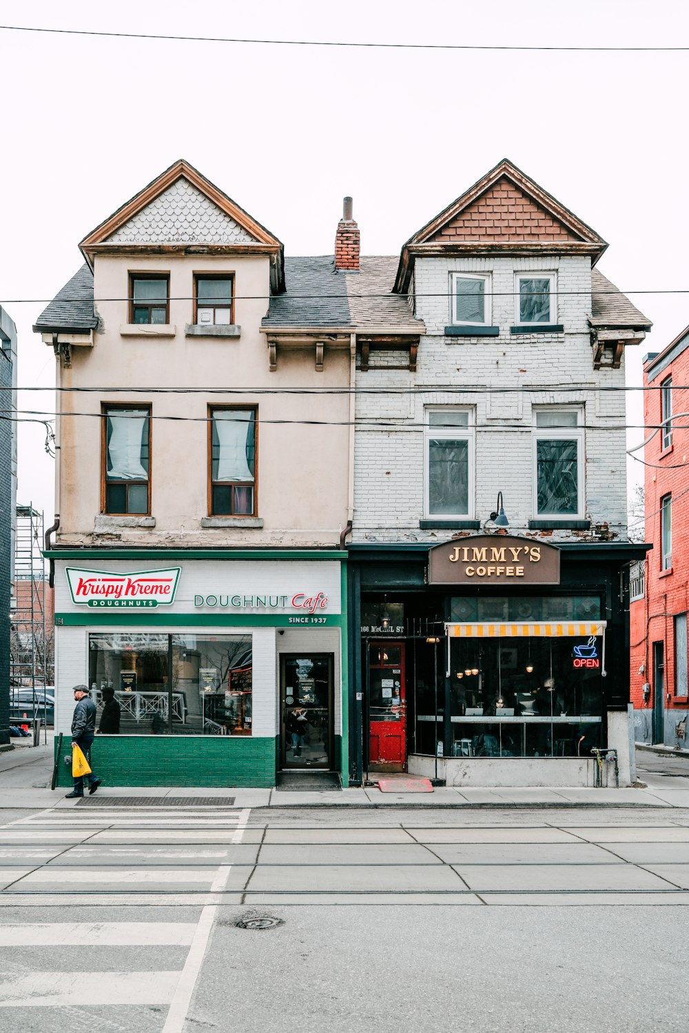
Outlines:
{"label": "red door with glass upper pane beside Jimmy's Coffee window", "polygon": [[407,766],[404,643],[369,645],[369,770]]}

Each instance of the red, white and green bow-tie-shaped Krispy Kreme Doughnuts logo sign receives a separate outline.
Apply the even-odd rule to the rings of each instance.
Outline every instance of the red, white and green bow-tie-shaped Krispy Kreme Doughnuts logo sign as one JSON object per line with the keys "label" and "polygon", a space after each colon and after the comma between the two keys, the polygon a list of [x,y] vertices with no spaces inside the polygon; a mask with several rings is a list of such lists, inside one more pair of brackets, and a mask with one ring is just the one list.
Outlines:
{"label": "red, white and green bow-tie-shaped Krispy Kreme Doughnuts logo sign", "polygon": [[91,609],[154,609],[175,601],[181,570],[169,567],[120,574],[67,567],[66,574],[72,602]]}

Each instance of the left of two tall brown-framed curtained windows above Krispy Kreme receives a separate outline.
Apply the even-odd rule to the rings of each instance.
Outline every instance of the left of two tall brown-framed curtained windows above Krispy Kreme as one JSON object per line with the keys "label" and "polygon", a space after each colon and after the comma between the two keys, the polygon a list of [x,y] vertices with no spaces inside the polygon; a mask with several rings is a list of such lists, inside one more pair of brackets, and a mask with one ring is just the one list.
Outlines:
{"label": "left of two tall brown-framed curtained windows above Krispy Kreme", "polygon": [[104,513],[151,512],[150,406],[103,407],[101,508]]}

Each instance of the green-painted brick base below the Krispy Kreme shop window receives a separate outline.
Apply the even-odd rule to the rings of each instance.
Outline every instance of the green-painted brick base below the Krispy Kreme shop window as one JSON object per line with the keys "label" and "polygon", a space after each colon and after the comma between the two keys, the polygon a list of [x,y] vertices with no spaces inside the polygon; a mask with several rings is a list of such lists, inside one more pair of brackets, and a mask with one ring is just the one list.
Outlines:
{"label": "green-painted brick base below the Krispy Kreme shop window", "polygon": [[[55,740],[57,753],[58,739]],[[62,741],[58,785],[73,784],[64,757],[71,739]],[[96,735],[91,764],[103,786],[194,786],[222,789],[275,785],[274,739],[225,735]]]}

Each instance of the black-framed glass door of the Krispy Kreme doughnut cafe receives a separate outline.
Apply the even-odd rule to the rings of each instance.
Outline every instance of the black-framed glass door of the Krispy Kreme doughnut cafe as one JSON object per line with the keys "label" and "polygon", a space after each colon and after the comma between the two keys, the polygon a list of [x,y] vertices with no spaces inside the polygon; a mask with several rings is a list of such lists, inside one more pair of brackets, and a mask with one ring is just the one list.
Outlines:
{"label": "black-framed glass door of the Krispy Kreme doughnut cafe", "polygon": [[280,657],[280,764],[333,770],[332,653]]}

